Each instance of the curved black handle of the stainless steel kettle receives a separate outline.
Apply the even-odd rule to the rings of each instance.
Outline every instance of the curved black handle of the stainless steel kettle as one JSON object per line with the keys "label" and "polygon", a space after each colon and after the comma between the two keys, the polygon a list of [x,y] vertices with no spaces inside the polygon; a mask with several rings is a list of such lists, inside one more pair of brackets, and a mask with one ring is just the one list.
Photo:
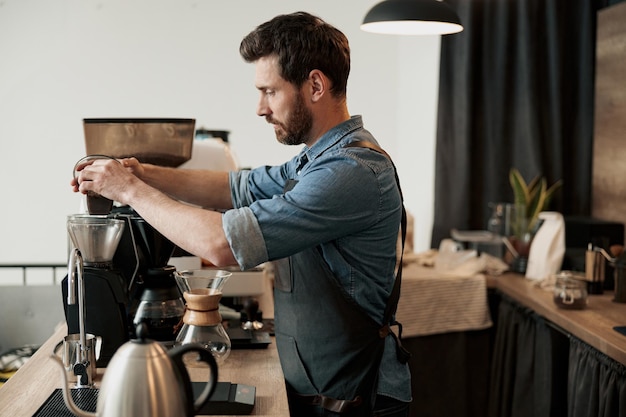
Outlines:
{"label": "curved black handle of the stainless steel kettle", "polygon": [[[207,365],[209,365],[209,368],[211,370],[209,374],[209,380],[207,381],[204,389],[202,390],[198,398],[195,399],[195,401],[193,389],[191,387],[191,378],[189,377],[187,368],[183,363],[183,355],[188,352],[197,352],[197,361],[206,363]],[[213,357],[211,351],[198,343],[190,343],[176,346],[168,352],[168,355],[179,369],[183,379],[183,383],[185,385],[185,392],[187,393],[188,399],[187,415],[194,416],[209,401],[209,398],[213,394],[213,391],[215,391],[215,387],[217,387],[217,362],[215,362],[215,358]]]}

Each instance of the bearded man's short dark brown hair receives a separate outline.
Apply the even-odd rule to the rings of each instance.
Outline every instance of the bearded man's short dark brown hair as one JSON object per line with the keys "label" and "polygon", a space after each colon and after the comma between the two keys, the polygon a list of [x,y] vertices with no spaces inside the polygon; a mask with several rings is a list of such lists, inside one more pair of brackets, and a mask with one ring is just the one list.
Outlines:
{"label": "bearded man's short dark brown hair", "polygon": [[306,12],[276,16],[250,32],[241,41],[239,53],[246,62],[276,54],[280,76],[296,87],[302,86],[312,70],[320,70],[331,80],[333,96],[346,96],[348,39],[319,17]]}

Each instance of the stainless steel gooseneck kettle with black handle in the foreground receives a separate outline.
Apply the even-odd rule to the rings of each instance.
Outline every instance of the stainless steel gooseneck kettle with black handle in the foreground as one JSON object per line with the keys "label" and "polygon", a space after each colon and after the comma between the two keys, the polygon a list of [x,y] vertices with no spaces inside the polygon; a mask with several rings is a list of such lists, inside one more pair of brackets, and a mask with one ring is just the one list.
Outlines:
{"label": "stainless steel gooseneck kettle with black handle in the foreground", "polygon": [[[113,355],[102,378],[95,414],[76,406],[63,364],[56,355],[51,356],[63,370],[63,397],[72,413],[79,417],[191,417],[204,406],[217,385],[217,364],[211,352],[195,344],[166,351],[145,334],[146,326],[138,326],[137,339],[126,342]],[[188,352],[197,352],[198,361],[210,368],[209,380],[195,401],[183,364]]]}

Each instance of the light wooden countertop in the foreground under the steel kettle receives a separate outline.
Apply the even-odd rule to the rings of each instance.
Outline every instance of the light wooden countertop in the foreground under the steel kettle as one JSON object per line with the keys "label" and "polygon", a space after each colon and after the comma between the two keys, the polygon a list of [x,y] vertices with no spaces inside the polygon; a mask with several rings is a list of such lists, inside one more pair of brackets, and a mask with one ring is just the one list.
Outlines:
{"label": "light wooden countertop in the foreground under the steel kettle", "polygon": [[[55,388],[62,385],[62,374],[50,354],[67,333],[60,325],[20,370],[0,388],[0,416],[31,417]],[[208,370],[188,368],[192,380],[206,380]],[[98,369],[96,385],[104,369]],[[233,350],[219,367],[219,381],[256,387],[254,416],[288,416],[287,394],[278,361],[276,343],[267,349]]]}

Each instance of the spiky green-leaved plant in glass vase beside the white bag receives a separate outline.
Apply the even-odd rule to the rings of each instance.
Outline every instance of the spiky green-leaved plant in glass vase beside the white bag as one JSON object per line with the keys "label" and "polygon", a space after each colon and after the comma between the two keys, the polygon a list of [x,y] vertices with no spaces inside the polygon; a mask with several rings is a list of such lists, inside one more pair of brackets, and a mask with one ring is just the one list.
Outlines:
{"label": "spiky green-leaved plant in glass vase beside the white bag", "polygon": [[[517,272],[525,272],[524,261],[528,259],[530,244],[541,226],[539,213],[548,208],[552,197],[563,185],[563,181],[558,180],[548,187],[545,177],[537,175],[527,183],[517,168],[511,168],[509,182],[514,197],[514,214],[512,213],[510,219],[511,236],[509,239],[517,251],[516,260],[523,263],[517,268]],[[515,268],[512,269],[515,270]]]}

